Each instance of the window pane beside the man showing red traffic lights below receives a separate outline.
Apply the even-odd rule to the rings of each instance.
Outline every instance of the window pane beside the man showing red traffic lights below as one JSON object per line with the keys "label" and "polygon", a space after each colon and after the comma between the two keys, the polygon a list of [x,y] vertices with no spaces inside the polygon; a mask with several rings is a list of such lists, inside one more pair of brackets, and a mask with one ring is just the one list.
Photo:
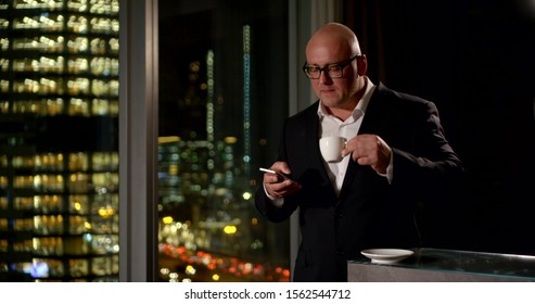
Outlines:
{"label": "window pane beside the man showing red traffic lights below", "polygon": [[289,224],[253,200],[288,116],[288,3],[158,7],[160,280],[290,281]]}

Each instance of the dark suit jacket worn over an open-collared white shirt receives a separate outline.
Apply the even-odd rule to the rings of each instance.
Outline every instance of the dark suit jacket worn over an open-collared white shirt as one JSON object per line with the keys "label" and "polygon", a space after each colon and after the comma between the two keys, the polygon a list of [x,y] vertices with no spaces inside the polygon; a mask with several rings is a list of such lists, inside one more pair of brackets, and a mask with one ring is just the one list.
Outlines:
{"label": "dark suit jacket worn over an open-collared white shirt", "polygon": [[375,134],[393,149],[393,181],[351,161],[336,198],[319,151],[318,102],[286,119],[279,147],[278,160],[289,164],[302,190],[279,208],[260,187],[255,204],[272,221],[288,219],[300,207],[294,281],[347,281],[347,259],[364,249],[419,246],[415,211],[444,199],[463,169],[444,137],[436,106],[379,84],[359,134]]}

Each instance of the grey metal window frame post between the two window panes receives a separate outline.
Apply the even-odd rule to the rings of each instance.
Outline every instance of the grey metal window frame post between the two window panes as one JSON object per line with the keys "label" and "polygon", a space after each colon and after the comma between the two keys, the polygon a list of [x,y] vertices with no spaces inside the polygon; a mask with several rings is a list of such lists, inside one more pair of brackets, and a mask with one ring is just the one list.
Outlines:
{"label": "grey metal window frame post between the two window panes", "polygon": [[157,0],[119,2],[119,281],[156,281]]}

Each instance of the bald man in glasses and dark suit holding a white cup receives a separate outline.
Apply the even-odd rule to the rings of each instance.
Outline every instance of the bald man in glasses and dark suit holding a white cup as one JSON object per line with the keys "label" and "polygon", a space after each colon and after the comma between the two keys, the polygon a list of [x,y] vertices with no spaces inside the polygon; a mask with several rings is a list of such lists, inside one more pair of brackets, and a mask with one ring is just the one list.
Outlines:
{"label": "bald man in glasses and dark suit holding a white cup", "polygon": [[[434,103],[366,75],[356,35],[329,23],[306,46],[305,76],[318,101],[289,117],[272,170],[255,195],[272,221],[300,210],[302,241],[293,281],[347,281],[347,261],[375,248],[421,245],[415,215],[447,203],[463,165],[445,138]],[[346,140],[326,162],[319,139]]]}

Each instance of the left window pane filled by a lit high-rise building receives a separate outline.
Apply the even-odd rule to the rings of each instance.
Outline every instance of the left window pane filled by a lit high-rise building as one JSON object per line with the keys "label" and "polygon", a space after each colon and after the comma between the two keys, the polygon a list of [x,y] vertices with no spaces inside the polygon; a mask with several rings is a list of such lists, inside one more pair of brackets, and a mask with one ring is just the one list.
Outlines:
{"label": "left window pane filled by a lit high-rise building", "polygon": [[0,1],[0,281],[118,280],[118,10]]}

